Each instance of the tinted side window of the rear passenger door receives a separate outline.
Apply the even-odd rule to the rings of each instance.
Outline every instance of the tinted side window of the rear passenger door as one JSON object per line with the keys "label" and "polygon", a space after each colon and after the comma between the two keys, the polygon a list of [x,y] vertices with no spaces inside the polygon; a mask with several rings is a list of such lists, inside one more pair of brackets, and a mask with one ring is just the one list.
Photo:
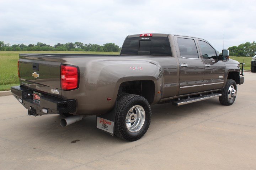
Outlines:
{"label": "tinted side window of the rear passenger door", "polygon": [[181,57],[198,58],[196,43],[193,39],[177,38]]}

